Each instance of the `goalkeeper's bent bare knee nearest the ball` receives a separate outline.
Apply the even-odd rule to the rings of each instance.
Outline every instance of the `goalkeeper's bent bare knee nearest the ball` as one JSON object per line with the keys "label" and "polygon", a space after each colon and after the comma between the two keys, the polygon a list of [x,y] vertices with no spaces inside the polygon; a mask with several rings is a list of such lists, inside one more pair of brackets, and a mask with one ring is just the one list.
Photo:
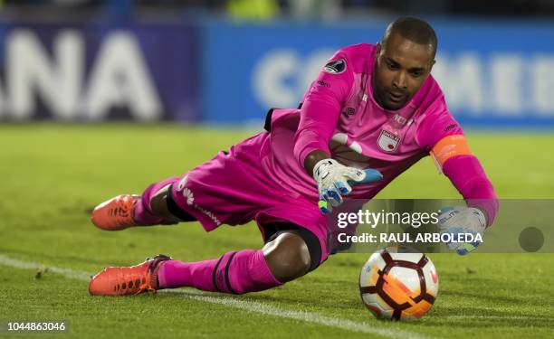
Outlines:
{"label": "goalkeeper's bent bare knee nearest the ball", "polygon": [[291,281],[310,270],[310,251],[306,242],[294,231],[287,231],[263,248],[263,255],[273,277],[281,282]]}

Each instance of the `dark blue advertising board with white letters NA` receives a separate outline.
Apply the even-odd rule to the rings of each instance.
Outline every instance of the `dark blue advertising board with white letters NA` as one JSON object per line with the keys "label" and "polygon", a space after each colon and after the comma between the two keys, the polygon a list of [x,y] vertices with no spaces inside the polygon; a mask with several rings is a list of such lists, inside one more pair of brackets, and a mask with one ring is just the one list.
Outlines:
{"label": "dark blue advertising board with white letters NA", "polygon": [[0,120],[196,121],[197,28],[0,25]]}

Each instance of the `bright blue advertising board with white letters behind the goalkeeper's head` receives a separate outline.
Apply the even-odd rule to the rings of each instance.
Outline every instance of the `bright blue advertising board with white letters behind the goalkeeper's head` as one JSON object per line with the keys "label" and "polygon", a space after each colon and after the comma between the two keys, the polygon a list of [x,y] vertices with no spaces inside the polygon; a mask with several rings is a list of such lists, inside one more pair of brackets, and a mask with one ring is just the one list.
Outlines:
{"label": "bright blue advertising board with white letters behind the goalkeeper's head", "polygon": [[[554,127],[554,24],[431,20],[439,38],[433,70],[465,125]],[[371,24],[206,24],[202,107],[206,121],[261,120],[268,108],[296,107],[339,48],[377,42]]]}

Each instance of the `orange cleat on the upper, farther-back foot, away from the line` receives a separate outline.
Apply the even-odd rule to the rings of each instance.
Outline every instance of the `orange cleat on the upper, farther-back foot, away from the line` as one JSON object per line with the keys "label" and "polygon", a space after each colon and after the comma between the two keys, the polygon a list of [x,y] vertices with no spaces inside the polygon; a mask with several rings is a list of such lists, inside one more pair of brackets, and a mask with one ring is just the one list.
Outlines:
{"label": "orange cleat on the upper, farther-back foot, away from the line", "polygon": [[139,199],[139,195],[122,194],[102,202],[92,211],[91,221],[96,227],[106,231],[119,231],[136,226],[133,214]]}

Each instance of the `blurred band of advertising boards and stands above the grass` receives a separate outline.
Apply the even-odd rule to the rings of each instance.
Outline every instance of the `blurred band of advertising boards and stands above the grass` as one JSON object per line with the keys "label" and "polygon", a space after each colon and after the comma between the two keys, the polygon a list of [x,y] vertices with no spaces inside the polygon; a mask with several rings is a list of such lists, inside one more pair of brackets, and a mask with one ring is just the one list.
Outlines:
{"label": "blurred band of advertising boards and stands above the grass", "polygon": [[554,1],[0,0],[0,121],[259,123],[416,15],[464,125],[554,127]]}

